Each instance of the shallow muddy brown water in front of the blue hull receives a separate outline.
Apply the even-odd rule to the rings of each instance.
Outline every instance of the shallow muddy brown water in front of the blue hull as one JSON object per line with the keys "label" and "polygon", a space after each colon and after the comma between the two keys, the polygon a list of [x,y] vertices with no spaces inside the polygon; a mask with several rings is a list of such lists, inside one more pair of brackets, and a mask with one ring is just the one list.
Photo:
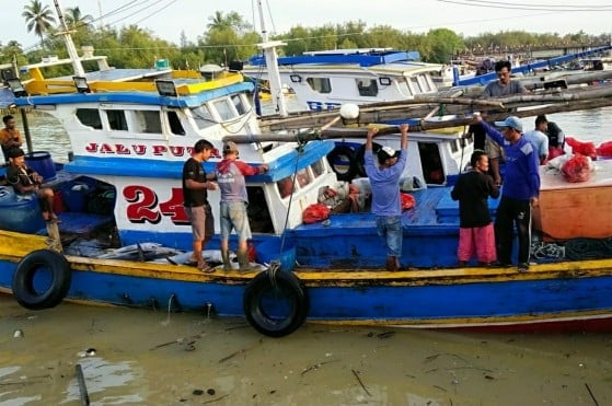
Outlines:
{"label": "shallow muddy brown water in front of the blue hull", "polygon": [[274,339],[243,320],[0,297],[0,405],[82,404],[78,363],[92,405],[612,404],[611,334],[307,324]]}

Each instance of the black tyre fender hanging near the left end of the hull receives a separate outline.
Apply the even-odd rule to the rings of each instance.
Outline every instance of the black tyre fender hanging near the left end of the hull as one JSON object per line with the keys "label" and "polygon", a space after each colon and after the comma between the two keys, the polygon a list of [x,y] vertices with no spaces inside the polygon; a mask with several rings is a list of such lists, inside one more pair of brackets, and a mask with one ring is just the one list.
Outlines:
{"label": "black tyre fender hanging near the left end of the hull", "polygon": [[70,265],[63,255],[51,250],[33,251],[18,264],[13,295],[25,309],[55,308],[68,294],[71,279]]}

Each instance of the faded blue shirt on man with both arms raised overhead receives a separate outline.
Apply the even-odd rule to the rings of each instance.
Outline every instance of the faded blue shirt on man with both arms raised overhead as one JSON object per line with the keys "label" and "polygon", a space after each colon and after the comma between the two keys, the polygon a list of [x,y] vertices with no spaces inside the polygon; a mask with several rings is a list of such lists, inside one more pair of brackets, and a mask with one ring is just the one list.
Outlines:
{"label": "faded blue shirt on man with both arms raised overhead", "polygon": [[374,164],[371,150],[366,150],[363,161],[366,174],[372,188],[372,212],[377,216],[402,216],[400,176],[406,166],[407,150],[402,150],[397,162],[391,167],[381,169]]}

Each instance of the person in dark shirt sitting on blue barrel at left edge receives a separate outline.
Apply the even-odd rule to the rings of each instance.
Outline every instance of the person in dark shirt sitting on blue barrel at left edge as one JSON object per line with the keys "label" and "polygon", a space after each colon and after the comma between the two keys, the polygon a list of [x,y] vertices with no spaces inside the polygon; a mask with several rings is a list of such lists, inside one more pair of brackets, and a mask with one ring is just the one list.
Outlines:
{"label": "person in dark shirt sitting on blue barrel at left edge", "polygon": [[19,147],[9,149],[9,166],[7,167],[7,181],[18,195],[36,194],[41,202],[43,219],[45,221],[57,221],[54,212],[54,190],[50,187],[42,187],[43,176],[25,164],[25,152]]}

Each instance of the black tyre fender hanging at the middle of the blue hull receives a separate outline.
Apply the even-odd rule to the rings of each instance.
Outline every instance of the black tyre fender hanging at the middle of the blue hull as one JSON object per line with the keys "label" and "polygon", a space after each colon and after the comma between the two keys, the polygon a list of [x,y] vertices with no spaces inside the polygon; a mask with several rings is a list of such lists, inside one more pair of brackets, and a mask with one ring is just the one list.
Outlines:
{"label": "black tyre fender hanging at the middle of the blue hull", "polygon": [[300,327],[309,311],[309,299],[300,279],[285,270],[264,270],[246,287],[244,315],[257,332],[284,337]]}

